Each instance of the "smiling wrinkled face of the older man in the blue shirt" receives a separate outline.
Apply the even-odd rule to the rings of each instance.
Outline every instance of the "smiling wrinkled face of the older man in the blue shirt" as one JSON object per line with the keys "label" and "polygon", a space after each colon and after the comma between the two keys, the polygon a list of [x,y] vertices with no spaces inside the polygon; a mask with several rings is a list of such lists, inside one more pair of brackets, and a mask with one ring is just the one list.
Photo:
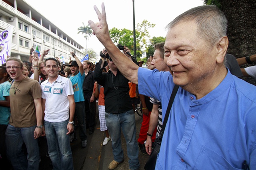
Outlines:
{"label": "smiling wrinkled face of the older man in the blue shirt", "polygon": [[[181,21],[172,27],[164,45],[164,62],[179,86],[197,86],[216,69],[213,46],[199,38],[193,21]],[[216,51],[215,51],[216,52]]]}

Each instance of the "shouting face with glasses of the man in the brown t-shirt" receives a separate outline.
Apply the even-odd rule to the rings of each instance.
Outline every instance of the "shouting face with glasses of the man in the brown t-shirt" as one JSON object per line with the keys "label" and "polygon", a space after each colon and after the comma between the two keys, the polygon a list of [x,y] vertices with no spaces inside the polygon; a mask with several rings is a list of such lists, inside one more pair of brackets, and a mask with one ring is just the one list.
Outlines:
{"label": "shouting face with glasses of the man in the brown t-shirt", "polygon": [[[10,67],[10,68],[8,68]],[[23,67],[18,61],[7,61],[6,70],[12,79],[19,79],[22,74]],[[24,77],[24,76],[23,76]]]}

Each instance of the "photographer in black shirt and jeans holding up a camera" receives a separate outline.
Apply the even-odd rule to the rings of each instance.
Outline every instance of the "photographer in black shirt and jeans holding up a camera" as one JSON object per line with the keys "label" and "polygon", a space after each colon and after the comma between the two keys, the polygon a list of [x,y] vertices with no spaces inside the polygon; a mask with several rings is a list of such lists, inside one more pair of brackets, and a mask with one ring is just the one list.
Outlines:
{"label": "photographer in black shirt and jeans holding up a camera", "polygon": [[[128,53],[130,50],[124,47],[124,54],[132,60]],[[139,150],[136,142],[135,116],[129,95],[129,80],[118,70],[106,49],[100,51],[100,57],[101,59],[94,70],[94,79],[104,87],[106,125],[112,137],[114,160],[110,162],[108,168],[112,170],[124,161],[121,145],[122,128],[126,139],[129,169],[137,170],[140,167]],[[109,63],[105,61],[106,58],[109,59]],[[110,67],[110,71],[102,73],[106,65]]]}

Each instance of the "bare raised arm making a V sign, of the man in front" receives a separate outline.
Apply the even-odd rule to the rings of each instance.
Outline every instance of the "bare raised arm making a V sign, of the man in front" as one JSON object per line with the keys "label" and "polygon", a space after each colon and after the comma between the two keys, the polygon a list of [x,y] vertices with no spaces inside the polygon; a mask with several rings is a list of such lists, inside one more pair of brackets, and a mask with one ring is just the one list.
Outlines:
{"label": "bare raised arm making a V sign, of the man in front", "polygon": [[106,22],[106,12],[104,3],[101,5],[102,13],[98,10],[96,6],[94,6],[94,10],[98,15],[99,22],[94,23],[89,20],[88,23],[93,30],[93,34],[96,35],[98,40],[104,45],[107,49],[108,54],[114,61],[118,70],[131,82],[138,84],[138,66],[133,63],[126,55],[124,55],[114,43],[111,41],[109,32],[108,32],[108,24]]}

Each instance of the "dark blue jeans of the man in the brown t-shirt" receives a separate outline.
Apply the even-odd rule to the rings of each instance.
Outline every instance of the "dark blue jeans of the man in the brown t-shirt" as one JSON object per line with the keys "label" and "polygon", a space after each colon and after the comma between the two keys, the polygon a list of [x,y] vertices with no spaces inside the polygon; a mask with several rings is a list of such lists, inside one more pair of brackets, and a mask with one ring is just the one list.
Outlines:
{"label": "dark blue jeans of the man in the brown t-shirt", "polygon": [[[6,135],[7,157],[15,170],[38,170],[39,169],[39,147],[38,140],[34,139],[32,127],[14,127],[8,125]],[[28,154],[24,154],[22,145],[25,143]]]}

